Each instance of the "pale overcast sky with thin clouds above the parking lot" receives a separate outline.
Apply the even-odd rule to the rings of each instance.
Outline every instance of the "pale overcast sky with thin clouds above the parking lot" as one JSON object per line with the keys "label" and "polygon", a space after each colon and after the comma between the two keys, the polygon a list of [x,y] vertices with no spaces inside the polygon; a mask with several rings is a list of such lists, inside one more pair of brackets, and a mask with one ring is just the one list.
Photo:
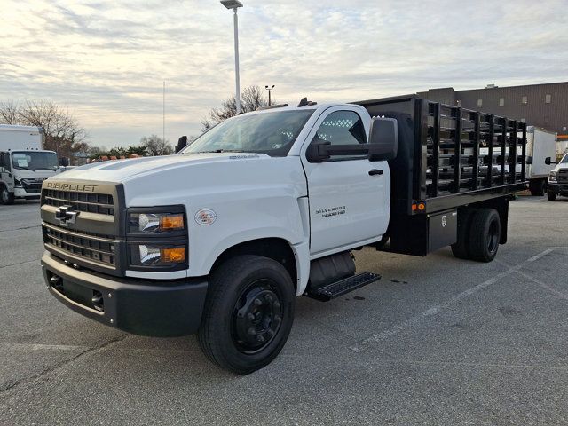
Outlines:
{"label": "pale overcast sky with thin clouds above the parking lot", "polygon": [[[351,101],[568,80],[567,0],[242,0],[241,87]],[[0,0],[0,101],[68,106],[108,148],[199,135],[234,90],[233,12],[217,0]]]}

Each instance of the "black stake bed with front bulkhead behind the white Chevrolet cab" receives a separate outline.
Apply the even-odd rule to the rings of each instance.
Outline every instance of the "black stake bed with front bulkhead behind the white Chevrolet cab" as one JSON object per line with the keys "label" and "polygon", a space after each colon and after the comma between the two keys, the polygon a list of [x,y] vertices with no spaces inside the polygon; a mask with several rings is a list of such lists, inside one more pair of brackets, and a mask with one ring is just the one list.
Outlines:
{"label": "black stake bed with front bulkhead behind the white Chevrolet cab", "polygon": [[[354,103],[398,120],[398,155],[389,162],[392,251],[426,254],[428,221],[420,217],[526,187],[525,122],[416,95]],[[417,202],[425,209],[413,211]]]}

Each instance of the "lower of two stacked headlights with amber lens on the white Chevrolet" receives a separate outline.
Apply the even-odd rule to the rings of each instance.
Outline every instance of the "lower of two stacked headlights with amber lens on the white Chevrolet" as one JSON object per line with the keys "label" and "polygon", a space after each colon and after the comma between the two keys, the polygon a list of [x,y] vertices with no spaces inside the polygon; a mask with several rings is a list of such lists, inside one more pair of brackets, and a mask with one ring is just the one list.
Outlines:
{"label": "lower of two stacked headlights with amber lens on the white Chevrolet", "polygon": [[130,244],[130,264],[133,266],[171,267],[185,265],[185,245]]}

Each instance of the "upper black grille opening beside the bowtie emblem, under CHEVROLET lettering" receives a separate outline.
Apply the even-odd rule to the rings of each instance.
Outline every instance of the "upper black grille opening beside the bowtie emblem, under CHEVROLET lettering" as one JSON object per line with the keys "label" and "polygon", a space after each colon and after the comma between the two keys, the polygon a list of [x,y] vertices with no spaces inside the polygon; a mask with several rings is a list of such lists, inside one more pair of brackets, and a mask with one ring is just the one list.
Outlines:
{"label": "upper black grille opening beside the bowtie emblem, under CHEVROLET lettering", "polygon": [[43,192],[44,204],[49,206],[61,207],[71,204],[78,211],[114,216],[113,196],[108,193],[75,193],[57,189],[45,189]]}

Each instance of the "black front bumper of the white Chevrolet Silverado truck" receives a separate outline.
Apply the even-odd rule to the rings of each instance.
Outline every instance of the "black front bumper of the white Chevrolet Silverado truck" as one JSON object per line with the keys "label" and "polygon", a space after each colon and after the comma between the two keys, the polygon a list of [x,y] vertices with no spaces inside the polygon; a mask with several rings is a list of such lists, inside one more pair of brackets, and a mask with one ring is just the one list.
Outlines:
{"label": "black front bumper of the white Chevrolet Silverado truck", "polygon": [[208,286],[204,278],[111,278],[74,269],[48,252],[43,254],[42,270],[51,295],[59,302],[107,326],[160,337],[192,335],[200,326]]}

